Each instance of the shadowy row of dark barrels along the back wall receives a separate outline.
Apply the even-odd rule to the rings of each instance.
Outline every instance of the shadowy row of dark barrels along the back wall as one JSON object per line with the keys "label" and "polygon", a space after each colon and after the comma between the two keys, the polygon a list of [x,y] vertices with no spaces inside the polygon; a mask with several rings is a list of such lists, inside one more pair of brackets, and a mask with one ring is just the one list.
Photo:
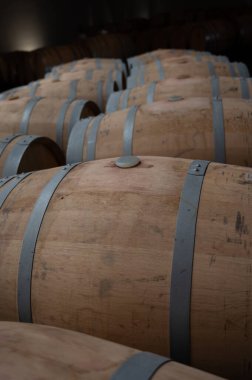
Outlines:
{"label": "shadowy row of dark barrels along the back wall", "polygon": [[[252,47],[251,10],[179,11],[152,20],[104,25],[68,45],[0,55],[0,90],[43,78],[50,67],[84,57],[120,58],[158,48],[209,50],[248,57]],[[144,22],[143,22],[144,21]]]}

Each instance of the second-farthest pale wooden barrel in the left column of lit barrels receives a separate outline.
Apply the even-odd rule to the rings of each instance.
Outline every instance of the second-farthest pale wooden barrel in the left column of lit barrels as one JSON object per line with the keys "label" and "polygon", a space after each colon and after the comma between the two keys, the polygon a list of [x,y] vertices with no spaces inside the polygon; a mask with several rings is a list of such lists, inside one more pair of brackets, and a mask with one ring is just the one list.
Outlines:
{"label": "second-farthest pale wooden barrel in the left column of lit barrels", "polygon": [[124,72],[119,70],[86,70],[86,71],[74,71],[69,73],[63,73],[63,74],[50,74],[46,76],[45,79],[40,80],[40,83],[42,81],[45,83],[48,82],[54,82],[55,80],[60,81],[71,81],[76,79],[84,79],[84,80],[91,80],[93,82],[99,82],[102,81],[114,81],[117,83],[120,90],[123,90],[126,88],[126,75]]}

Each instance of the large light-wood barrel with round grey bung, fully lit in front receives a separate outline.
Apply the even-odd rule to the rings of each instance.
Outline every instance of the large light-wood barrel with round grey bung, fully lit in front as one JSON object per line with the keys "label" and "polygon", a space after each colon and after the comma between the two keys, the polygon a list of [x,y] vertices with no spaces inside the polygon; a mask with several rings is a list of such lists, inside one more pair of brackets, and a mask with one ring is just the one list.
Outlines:
{"label": "large light-wood barrel with round grey bung, fully lit in front", "polygon": [[0,319],[251,379],[252,169],[140,161],[1,183]]}

